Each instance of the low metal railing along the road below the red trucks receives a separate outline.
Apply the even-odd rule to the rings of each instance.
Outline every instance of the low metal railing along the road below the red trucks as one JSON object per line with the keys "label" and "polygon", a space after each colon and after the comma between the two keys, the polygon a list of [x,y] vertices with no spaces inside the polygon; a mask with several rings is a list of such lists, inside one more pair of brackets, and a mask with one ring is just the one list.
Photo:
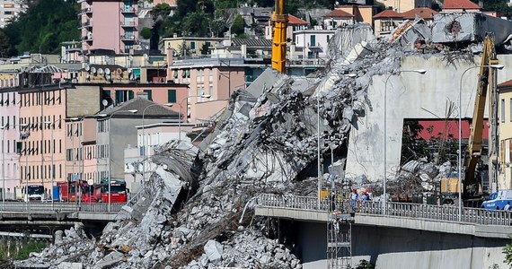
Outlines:
{"label": "low metal railing along the road below the red trucks", "polygon": [[5,202],[0,204],[0,213],[119,213],[125,203],[41,203]]}

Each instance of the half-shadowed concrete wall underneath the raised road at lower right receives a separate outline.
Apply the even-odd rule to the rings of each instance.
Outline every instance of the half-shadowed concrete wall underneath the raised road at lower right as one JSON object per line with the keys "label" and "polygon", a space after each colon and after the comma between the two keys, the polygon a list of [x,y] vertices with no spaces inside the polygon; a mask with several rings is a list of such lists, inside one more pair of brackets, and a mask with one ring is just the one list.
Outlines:
{"label": "half-shadowed concrete wall underneath the raised road at lower right", "polygon": [[[296,222],[296,244],[305,269],[326,268],[327,230],[324,223]],[[481,239],[424,230],[352,226],[353,265],[364,258],[375,269],[479,268],[503,263],[508,239]]]}

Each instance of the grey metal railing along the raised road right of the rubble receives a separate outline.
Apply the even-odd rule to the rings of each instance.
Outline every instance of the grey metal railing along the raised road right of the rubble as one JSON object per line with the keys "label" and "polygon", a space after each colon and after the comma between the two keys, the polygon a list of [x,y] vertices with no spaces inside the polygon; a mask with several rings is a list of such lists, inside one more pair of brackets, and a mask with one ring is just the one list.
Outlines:
{"label": "grey metal railing along the raised road right of the rubble", "polygon": [[[296,195],[260,195],[255,200],[255,206],[289,208],[296,210],[327,211],[331,201],[323,199],[318,204],[318,198],[314,196]],[[337,209],[349,212],[349,200],[337,201]],[[356,213],[373,215],[383,214],[383,205],[379,202],[358,202]],[[386,215],[390,217],[408,217],[424,220],[459,222],[458,207],[454,205],[410,204],[410,203],[386,203]],[[512,225],[512,212],[487,210],[481,208],[463,208],[461,223],[482,225]]]}

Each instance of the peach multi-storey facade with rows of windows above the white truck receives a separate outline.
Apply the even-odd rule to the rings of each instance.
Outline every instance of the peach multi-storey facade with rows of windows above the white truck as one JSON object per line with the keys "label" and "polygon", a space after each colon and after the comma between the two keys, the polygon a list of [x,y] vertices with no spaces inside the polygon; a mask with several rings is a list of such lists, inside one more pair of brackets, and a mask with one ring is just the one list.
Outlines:
{"label": "peach multi-storey facade with rows of windows above the white truck", "polygon": [[20,124],[28,126],[21,140],[20,178],[22,185],[44,185],[49,194],[52,179],[66,178],[66,89],[58,85],[41,89],[19,91]]}

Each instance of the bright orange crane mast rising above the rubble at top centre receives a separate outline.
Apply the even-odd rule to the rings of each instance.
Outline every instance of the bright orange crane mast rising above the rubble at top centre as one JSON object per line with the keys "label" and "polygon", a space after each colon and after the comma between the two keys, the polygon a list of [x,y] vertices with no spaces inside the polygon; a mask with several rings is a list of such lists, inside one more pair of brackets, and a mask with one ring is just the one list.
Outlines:
{"label": "bright orange crane mast rising above the rubble at top centre", "polygon": [[287,64],[287,23],[288,15],[285,14],[285,0],[276,0],[274,13],[272,14],[273,38],[272,38],[272,68],[279,73],[286,72]]}

